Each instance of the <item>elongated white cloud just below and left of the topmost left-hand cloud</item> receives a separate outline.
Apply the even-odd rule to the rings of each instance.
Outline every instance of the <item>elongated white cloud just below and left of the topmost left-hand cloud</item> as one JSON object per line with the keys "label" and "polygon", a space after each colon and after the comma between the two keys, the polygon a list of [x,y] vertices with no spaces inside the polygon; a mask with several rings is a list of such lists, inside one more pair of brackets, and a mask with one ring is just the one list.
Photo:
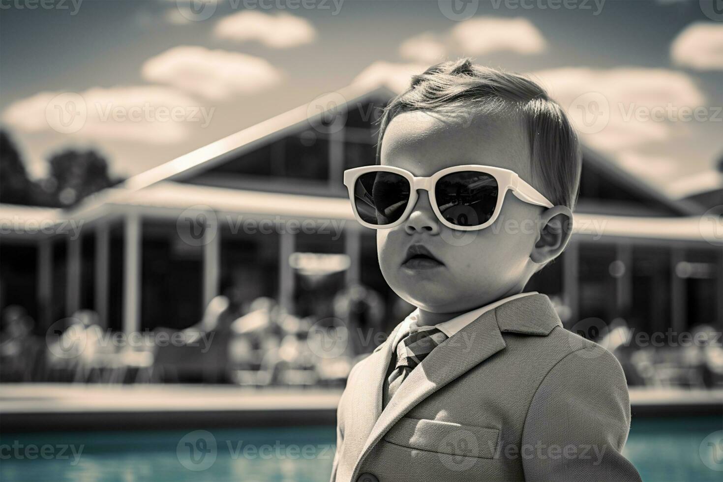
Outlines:
{"label": "elongated white cloud just below and left of the topmost left-hand cloud", "polygon": [[210,100],[250,95],[281,82],[281,72],[265,59],[246,53],[178,46],[145,61],[148,82],[173,85]]}

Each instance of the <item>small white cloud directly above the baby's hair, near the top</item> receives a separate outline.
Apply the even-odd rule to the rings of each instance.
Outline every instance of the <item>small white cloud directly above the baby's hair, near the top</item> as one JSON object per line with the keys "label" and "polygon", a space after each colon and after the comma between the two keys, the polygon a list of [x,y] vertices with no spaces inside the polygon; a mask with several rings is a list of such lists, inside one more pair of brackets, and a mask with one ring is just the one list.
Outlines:
{"label": "small white cloud directly above the baby's hair, near the top", "polygon": [[547,43],[537,28],[524,18],[474,17],[460,22],[450,37],[463,55],[514,52],[540,53]]}

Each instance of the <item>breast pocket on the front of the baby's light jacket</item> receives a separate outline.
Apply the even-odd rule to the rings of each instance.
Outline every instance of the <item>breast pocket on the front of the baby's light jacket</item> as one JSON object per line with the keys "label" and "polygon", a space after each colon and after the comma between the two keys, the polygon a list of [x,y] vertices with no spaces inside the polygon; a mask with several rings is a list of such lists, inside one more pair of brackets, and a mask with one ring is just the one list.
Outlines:
{"label": "breast pocket on the front of the baby's light jacket", "polygon": [[492,459],[500,430],[460,423],[403,417],[387,432],[387,442],[457,457]]}

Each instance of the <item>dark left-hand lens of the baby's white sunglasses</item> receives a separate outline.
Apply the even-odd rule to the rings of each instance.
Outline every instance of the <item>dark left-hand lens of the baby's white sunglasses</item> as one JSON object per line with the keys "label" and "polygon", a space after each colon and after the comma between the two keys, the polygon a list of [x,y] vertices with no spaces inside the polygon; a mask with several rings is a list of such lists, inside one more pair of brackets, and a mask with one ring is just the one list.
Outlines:
{"label": "dark left-hand lens of the baby's white sunglasses", "polygon": [[409,181],[397,173],[361,174],[354,183],[354,204],[359,218],[369,224],[388,225],[398,220],[409,202]]}

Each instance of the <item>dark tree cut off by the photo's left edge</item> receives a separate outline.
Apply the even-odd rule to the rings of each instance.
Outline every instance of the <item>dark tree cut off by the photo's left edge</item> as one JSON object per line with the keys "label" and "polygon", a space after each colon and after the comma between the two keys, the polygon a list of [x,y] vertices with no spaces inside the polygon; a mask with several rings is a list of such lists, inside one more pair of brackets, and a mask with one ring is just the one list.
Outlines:
{"label": "dark tree cut off by the photo's left edge", "polygon": [[0,130],[0,202],[33,205],[34,188],[14,142],[7,132]]}

